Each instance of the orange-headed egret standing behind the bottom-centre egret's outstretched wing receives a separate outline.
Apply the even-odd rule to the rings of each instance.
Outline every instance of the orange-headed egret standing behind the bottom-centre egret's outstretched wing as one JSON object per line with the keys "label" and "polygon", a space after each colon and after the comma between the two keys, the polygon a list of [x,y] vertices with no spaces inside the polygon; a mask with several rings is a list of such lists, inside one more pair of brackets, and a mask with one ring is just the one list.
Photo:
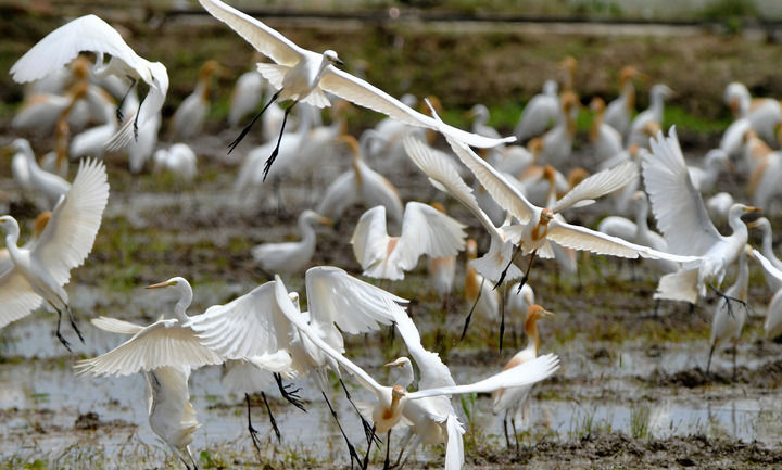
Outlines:
{"label": "orange-headed egret standing behind the bottom-centre egret's outstretched wing", "polygon": [[[540,335],[538,334],[538,320],[544,317],[551,317],[554,314],[544,309],[538,304],[532,304],[527,310],[527,320],[525,321],[525,332],[527,333],[527,346],[516,353],[505,365],[503,370],[510,369],[520,364],[525,364],[538,357],[540,351]],[[516,439],[516,452],[518,452],[518,431],[516,431],[516,416],[519,410],[522,411],[522,420],[528,419],[529,415],[529,393],[532,385],[517,386],[513,389],[500,389],[492,393],[492,412],[499,415],[505,411],[503,416],[503,431],[505,432],[505,444],[510,447],[510,440],[507,435],[507,418],[510,416],[510,425],[514,430]]]}

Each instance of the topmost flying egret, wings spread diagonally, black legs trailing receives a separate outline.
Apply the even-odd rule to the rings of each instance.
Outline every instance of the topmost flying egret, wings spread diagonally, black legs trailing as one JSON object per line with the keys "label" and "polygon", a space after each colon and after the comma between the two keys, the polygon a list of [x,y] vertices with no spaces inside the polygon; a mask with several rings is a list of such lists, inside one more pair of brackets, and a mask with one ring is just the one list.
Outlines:
{"label": "topmost flying egret, wings spread diagonally, black legs trailing", "polygon": [[[495,147],[516,140],[515,137],[491,139],[437,123],[431,117],[405,106],[401,101],[367,81],[335,67],[333,64],[342,64],[337,52],[327,50],[323,54],[318,54],[300,48],[275,29],[219,0],[199,0],[199,2],[210,14],[227,24],[258,52],[276,62],[274,64],[258,63],[257,69],[278,90],[268,103],[277,100],[292,101],[292,104],[286,109],[286,117],[299,101],[317,107],[329,106],[330,101],[326,97],[328,92],[413,126],[439,129],[441,132],[459,139],[469,145]],[[258,116],[265,111],[266,106]],[[257,116],[231,143],[231,150],[250,131],[250,127],[256,118]],[[282,137],[285,123],[283,117],[277,147],[279,147]],[[272,167],[277,157],[277,152],[278,149],[275,148],[266,161],[265,173],[268,173]]]}

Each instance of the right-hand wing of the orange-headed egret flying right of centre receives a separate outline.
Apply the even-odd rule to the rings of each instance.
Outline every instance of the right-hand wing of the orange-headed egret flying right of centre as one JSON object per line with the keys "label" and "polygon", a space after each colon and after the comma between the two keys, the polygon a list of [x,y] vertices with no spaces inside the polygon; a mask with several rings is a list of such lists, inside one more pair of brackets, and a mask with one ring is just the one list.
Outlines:
{"label": "right-hand wing of the orange-headed egret flying right of centre", "polygon": [[668,259],[677,263],[689,263],[699,259],[698,256],[682,256],[660,252],[648,246],[631,243],[618,237],[554,219],[548,223],[546,237],[573,250],[589,251],[600,255],[611,255],[623,258]]}

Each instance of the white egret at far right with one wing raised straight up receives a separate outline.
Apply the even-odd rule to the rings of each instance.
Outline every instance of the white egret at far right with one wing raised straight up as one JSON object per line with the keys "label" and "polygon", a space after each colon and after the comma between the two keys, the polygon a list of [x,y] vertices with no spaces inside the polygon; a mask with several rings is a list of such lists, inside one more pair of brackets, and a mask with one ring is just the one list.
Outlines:
{"label": "white egret at far right with one wing raised straight up", "polygon": [[660,131],[657,140],[649,143],[652,153],[643,156],[643,176],[657,226],[671,252],[701,257],[661,277],[655,298],[694,304],[698,296],[706,295],[708,282],[716,281],[719,287],[726,270],[744,249],[748,233],[741,216],[759,209],[733,204],[728,214],[733,232],[728,237],[720,234],[693,186],[676,127],[671,127],[667,138]]}

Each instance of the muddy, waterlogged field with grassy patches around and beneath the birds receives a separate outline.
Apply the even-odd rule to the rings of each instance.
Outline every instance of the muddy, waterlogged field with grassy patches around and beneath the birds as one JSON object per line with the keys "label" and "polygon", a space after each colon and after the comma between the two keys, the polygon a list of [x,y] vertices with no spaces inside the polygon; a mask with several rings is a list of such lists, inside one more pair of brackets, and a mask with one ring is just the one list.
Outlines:
{"label": "muddy, waterlogged field with grassy patches around and beneath the birds", "polygon": [[[20,22],[30,20],[22,17]],[[45,33],[52,22],[42,21],[34,30]],[[301,43],[333,43],[337,35],[324,29],[291,27],[286,33]],[[214,28],[217,37],[211,51],[175,56],[166,47],[184,30],[184,24],[175,23],[162,29],[162,39],[154,45],[148,41],[151,35],[148,30],[136,31],[137,43],[129,41],[142,55],[151,58],[160,53],[171,58],[171,65],[161,59],[172,75],[172,96],[166,111],[173,110],[189,92],[202,54],[225,52],[226,45],[240,48],[241,54],[224,55],[226,65],[237,74],[247,68],[251,55],[243,42],[226,42],[228,35]],[[775,66],[779,60],[774,60],[781,56],[779,48],[737,37],[609,39],[497,34],[480,35],[468,46],[455,34],[427,36],[422,28],[402,33],[371,28],[365,33],[370,38],[366,42],[375,47],[394,34],[420,46],[419,55],[412,54],[411,62],[401,71],[378,81],[401,81],[394,74],[407,73],[409,90],[442,94],[444,103],[458,110],[453,116],[459,116],[468,104],[484,101],[500,116],[508,114],[499,118],[508,123],[515,120],[520,107],[505,105],[501,93],[520,97],[519,102],[527,99],[544,78],[556,75],[553,62],[566,53],[579,55],[581,52],[584,65],[577,87],[582,90],[584,101],[594,93],[615,93],[611,79],[616,69],[632,61],[680,92],[673,104],[680,113],[677,116],[690,119],[683,125],[689,156],[702,155],[710,143],[718,141],[726,119],[720,94],[727,81],[746,78],[754,91],[770,93],[780,87]],[[351,29],[346,35],[355,43],[361,30]],[[29,46],[27,37],[22,36],[20,34],[13,43],[3,43],[3,64],[10,65]],[[381,64],[401,61],[401,53],[362,55],[362,48],[351,47],[350,38],[338,42],[342,46],[344,41],[344,49],[353,56],[365,58],[374,64],[374,68],[367,71],[369,79],[383,76]],[[429,51],[437,51],[434,63],[440,64],[445,50],[452,51],[456,61],[472,54],[474,48],[490,46],[492,48],[484,49],[472,65],[474,68],[487,64],[494,67],[489,74],[495,80],[492,82],[480,80],[475,73],[463,77],[447,75],[452,71],[445,65],[430,69],[425,66],[427,60],[431,60],[426,58]],[[342,54],[342,49],[335,49]],[[520,56],[507,59],[510,50],[520,51]],[[716,53],[717,50],[720,52]],[[711,61],[705,59],[709,54]],[[677,65],[682,56],[694,61],[697,73],[703,75],[682,71]],[[512,64],[517,63],[524,66],[513,68]],[[535,69],[535,64],[542,65]],[[712,73],[708,75],[704,71]],[[510,77],[518,74],[528,79]],[[704,76],[709,77],[707,82]],[[8,122],[16,106],[14,100],[21,96],[18,87],[7,85],[2,92],[5,113],[0,128],[1,144],[15,137]],[[349,155],[338,152],[316,167],[317,175],[312,182],[306,178],[286,178],[281,185],[281,212],[277,196],[268,187],[252,194],[235,194],[231,189],[242,155],[241,152],[230,158],[225,155],[226,143],[235,137],[235,131],[225,129],[224,119],[229,85],[229,78],[219,80],[207,135],[191,142],[199,154],[195,182],[184,183],[169,175],[150,172],[130,175],[125,156],[106,156],[111,185],[109,206],[90,257],[84,267],[72,272],[67,287],[79,325],[86,332],[85,344],[78,343],[66,329],[67,339],[75,345],[75,354],[68,355],[53,334],[56,318],[41,312],[0,331],[0,468],[180,467],[175,458],[167,457],[165,446],[149,428],[141,377],[75,377],[72,369],[75,360],[103,353],[122,341],[96,330],[88,319],[106,315],[144,323],[153,321],[171,312],[174,300],[166,293],[142,288],[173,276],[186,277],[193,285],[190,313],[230,301],[269,280],[269,274],[262,272],[252,261],[250,249],[266,241],[295,239],[298,214],[313,207],[325,185],[350,164]],[[389,91],[405,90],[391,88]],[[643,98],[640,102],[645,105]],[[355,111],[350,118],[354,132],[376,120],[375,115],[362,111]],[[668,119],[676,123],[676,116],[668,115]],[[584,143],[585,135],[581,132],[579,139],[578,156],[589,168],[593,158]],[[48,139],[34,144],[40,152],[51,147]],[[247,152],[251,147],[251,142],[245,142],[239,150]],[[452,216],[470,226],[469,233],[479,245],[488,247],[488,237],[478,221],[458,203],[436,191],[409,162],[380,156],[369,163],[398,186],[404,201],[442,202]],[[72,162],[71,177],[76,164]],[[719,187],[745,194],[745,181],[737,177],[723,175]],[[11,179],[8,158],[0,160],[0,189],[8,196],[3,202],[8,212],[25,220],[24,238],[37,212],[36,201],[23,194]],[[598,203],[568,213],[566,217],[595,227],[608,207]],[[364,209],[354,206],[337,228],[317,229],[318,250],[313,265],[336,265],[356,275],[360,272],[349,240]],[[4,207],[0,209],[5,212]],[[774,228],[781,229],[775,215],[767,214]],[[782,466],[779,446],[782,345],[762,339],[761,316],[770,293],[754,265],[751,265],[751,275],[749,298],[754,309],[736,351],[737,371],[733,378],[732,356],[728,351],[716,353],[711,374],[704,372],[712,301],[699,303],[693,312],[684,304],[664,302],[655,312],[652,294],[656,274],[643,263],[582,256],[578,275],[568,275],[560,272],[555,263],[539,262],[530,284],[537,302],[556,314],[541,323],[542,352],[558,354],[562,368],[534,389],[531,419],[519,429],[518,452],[506,448],[502,418],[492,416],[489,396],[479,395],[475,401],[462,402],[461,406],[455,398],[454,404],[467,427],[466,468]],[[464,341],[459,341],[469,309],[462,297],[463,277],[464,259],[459,258],[447,312],[440,308],[440,301],[426,288],[425,263],[404,281],[382,284],[411,300],[409,312],[421,330],[424,345],[441,354],[457,382],[500,370],[525,344],[519,318],[508,319],[502,352],[496,320],[475,320]],[[732,276],[726,285],[730,282]],[[303,277],[294,276],[289,288],[303,292],[302,284]],[[350,338],[345,347],[360,366],[383,380],[388,379],[388,371],[379,366],[405,354],[401,339],[392,338],[389,331]],[[194,371],[190,379],[191,398],[202,423],[191,446],[200,467],[330,469],[349,466],[339,431],[312,382],[297,381],[304,388],[306,414],[288,406],[275,390],[267,391],[282,432],[281,442],[270,432],[261,401],[255,401],[254,424],[264,443],[263,452],[257,455],[245,432],[242,397],[227,393],[219,378],[220,369],[210,367]],[[357,399],[369,398],[354,381],[346,380],[346,383]],[[362,436],[358,419],[341,396],[336,380],[332,385],[331,395],[339,405],[346,431],[357,443]],[[425,447],[407,465],[408,468],[441,468],[443,456],[442,446]],[[374,456],[373,468],[381,466],[379,453]]]}

